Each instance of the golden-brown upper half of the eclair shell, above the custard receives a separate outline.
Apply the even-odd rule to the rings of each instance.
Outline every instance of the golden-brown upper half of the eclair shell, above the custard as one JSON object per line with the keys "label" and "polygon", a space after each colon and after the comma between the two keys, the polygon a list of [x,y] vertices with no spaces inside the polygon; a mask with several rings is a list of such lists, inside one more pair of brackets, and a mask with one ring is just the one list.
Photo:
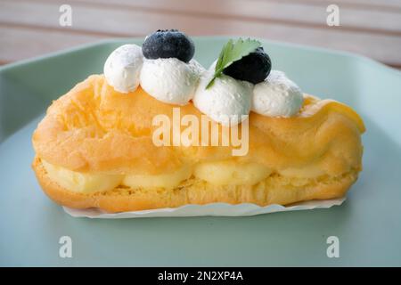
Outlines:
{"label": "golden-brown upper half of the eclair shell, above the custard", "polygon": [[78,172],[157,175],[201,161],[235,159],[272,169],[321,167],[328,175],[361,168],[364,123],[354,110],[305,94],[297,116],[268,118],[250,113],[249,152],[232,157],[232,147],[163,146],[152,142],[152,118],[173,108],[201,117],[190,102],[159,102],[141,87],[119,94],[102,75],[88,77],[47,110],[33,134],[37,156]]}

